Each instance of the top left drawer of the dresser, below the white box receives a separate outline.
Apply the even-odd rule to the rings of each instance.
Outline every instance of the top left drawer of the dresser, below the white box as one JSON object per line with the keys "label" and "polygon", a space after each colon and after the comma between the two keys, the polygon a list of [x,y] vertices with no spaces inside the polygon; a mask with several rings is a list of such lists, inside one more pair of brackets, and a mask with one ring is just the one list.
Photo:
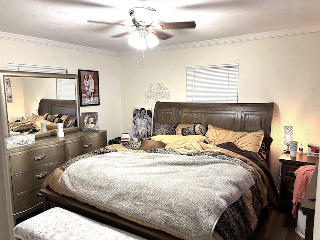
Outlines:
{"label": "top left drawer of the dresser, below the white box", "polygon": [[11,174],[27,172],[42,165],[65,161],[65,146],[61,144],[9,157]]}

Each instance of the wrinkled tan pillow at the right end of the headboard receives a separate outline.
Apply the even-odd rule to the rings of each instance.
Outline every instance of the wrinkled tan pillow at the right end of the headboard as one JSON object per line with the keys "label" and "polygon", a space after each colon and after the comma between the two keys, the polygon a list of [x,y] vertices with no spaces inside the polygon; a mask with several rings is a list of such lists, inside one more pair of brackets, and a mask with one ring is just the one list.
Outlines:
{"label": "wrinkled tan pillow at the right end of the headboard", "polygon": [[242,150],[258,152],[264,137],[263,130],[258,132],[235,132],[210,129],[206,132],[206,141],[211,145],[232,142]]}

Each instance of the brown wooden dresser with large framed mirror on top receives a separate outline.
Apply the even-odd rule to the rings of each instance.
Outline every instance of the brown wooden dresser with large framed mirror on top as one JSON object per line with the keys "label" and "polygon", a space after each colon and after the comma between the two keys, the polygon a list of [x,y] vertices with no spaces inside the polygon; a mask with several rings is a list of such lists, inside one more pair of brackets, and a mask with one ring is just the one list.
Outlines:
{"label": "brown wooden dresser with large framed mirror on top", "polygon": [[[57,137],[57,129],[32,132],[35,143],[6,149],[6,159],[2,160],[6,161],[14,221],[42,208],[39,189],[55,168],[73,157],[107,145],[105,130],[81,131],[77,77],[74,74],[0,71],[1,132],[5,138],[10,136],[9,122],[23,121],[31,115],[67,113],[76,117],[72,127],[63,128],[64,137]],[[10,101],[6,92],[8,79],[12,88]],[[74,100],[57,100],[57,80],[74,84]]]}

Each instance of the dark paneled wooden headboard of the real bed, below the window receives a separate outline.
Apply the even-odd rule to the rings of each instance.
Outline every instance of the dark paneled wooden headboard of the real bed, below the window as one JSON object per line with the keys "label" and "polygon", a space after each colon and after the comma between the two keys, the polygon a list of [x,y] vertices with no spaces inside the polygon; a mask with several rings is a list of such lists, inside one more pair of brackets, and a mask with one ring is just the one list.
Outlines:
{"label": "dark paneled wooden headboard of the real bed, below the window", "polygon": [[[186,103],[156,102],[155,123],[201,123],[235,131],[263,130],[271,135],[274,103]],[[270,166],[269,154],[267,165]]]}

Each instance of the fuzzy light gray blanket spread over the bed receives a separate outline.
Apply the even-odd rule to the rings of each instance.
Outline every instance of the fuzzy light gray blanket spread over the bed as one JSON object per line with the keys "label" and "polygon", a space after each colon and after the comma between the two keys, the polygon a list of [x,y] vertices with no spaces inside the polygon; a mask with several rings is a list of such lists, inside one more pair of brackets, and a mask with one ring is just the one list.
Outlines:
{"label": "fuzzy light gray blanket spread over the bed", "polygon": [[81,159],[59,180],[79,197],[190,240],[211,239],[226,207],[253,184],[249,173],[232,161],[129,152]]}

